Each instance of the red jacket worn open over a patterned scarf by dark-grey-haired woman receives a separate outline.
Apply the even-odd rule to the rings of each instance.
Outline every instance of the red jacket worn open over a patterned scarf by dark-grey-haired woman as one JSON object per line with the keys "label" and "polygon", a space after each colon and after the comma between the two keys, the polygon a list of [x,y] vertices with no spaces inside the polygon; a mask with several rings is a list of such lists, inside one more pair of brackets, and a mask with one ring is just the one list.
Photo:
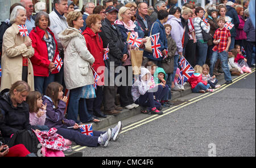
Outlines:
{"label": "red jacket worn open over a patterned scarf by dark-grey-haired woman", "polygon": [[[51,33],[52,37],[55,40],[53,32],[47,28],[47,31]],[[45,32],[39,27],[33,28],[30,32],[30,38],[32,40],[32,47],[35,49],[34,57],[31,57],[30,60],[33,64],[34,76],[49,76],[49,64],[51,63],[48,59],[48,50],[46,41],[43,40]],[[55,61],[57,55],[59,54],[59,50],[57,49],[57,41],[55,40],[56,49],[55,55],[53,57],[52,62]],[[52,74],[56,74],[52,72]]]}

